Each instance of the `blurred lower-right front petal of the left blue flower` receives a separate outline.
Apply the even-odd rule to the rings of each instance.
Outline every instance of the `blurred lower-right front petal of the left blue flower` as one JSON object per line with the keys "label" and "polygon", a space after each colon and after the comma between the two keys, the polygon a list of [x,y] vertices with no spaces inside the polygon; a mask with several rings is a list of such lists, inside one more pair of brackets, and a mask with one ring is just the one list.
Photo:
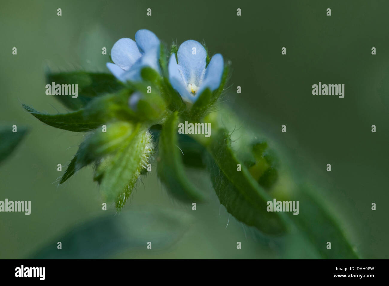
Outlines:
{"label": "blurred lower-right front petal of the left blue flower", "polygon": [[147,51],[140,59],[132,65],[130,70],[125,72],[121,76],[122,81],[141,81],[142,77],[140,75],[140,71],[144,67],[151,67],[159,74],[161,70],[159,68],[159,46],[156,46],[149,51]]}

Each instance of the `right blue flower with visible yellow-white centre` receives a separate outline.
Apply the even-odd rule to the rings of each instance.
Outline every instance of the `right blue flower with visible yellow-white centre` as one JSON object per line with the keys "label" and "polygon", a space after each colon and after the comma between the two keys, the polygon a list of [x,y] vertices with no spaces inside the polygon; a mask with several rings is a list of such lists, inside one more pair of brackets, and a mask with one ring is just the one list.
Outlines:
{"label": "right blue flower with visible yellow-white centre", "polygon": [[215,54],[207,68],[207,51],[199,42],[187,40],[169,60],[169,81],[181,97],[189,102],[195,102],[201,93],[209,88],[214,91],[220,86],[224,70],[224,60],[221,54]]}

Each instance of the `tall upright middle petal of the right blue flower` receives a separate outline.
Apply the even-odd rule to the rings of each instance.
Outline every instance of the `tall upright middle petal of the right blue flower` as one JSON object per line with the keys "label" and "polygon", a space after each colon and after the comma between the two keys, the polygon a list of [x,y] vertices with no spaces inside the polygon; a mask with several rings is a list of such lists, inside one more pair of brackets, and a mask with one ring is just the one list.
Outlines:
{"label": "tall upright middle petal of the right blue flower", "polygon": [[[194,51],[196,51],[195,54]],[[183,42],[178,51],[178,69],[188,84],[199,86],[205,72],[207,51],[199,42],[187,40]]]}

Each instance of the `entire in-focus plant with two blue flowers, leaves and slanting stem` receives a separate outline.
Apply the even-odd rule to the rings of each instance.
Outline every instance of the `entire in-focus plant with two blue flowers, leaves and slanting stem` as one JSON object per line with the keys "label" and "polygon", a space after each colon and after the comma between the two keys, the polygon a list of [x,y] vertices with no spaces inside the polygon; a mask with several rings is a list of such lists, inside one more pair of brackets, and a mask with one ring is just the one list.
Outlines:
{"label": "entire in-focus plant with two blue flowers, leaves and slanting stem", "polygon": [[[287,173],[277,184],[279,161],[266,140],[257,139],[262,134],[253,132],[222,104],[214,108],[228,75],[221,54],[210,58],[207,49],[195,40],[187,40],[178,48],[173,44],[168,51],[154,33],[139,30],[135,41],[123,38],[114,44],[111,59],[113,63],[107,63],[110,73],[46,75],[47,83],[53,83],[53,91],[55,88],[50,95],[71,112],[50,115],[23,105],[47,125],[87,132],[60,184],[92,164],[93,180],[100,186],[103,202],[115,202],[116,210],[121,211],[140,176],[156,168],[170,194],[193,206],[207,196],[189,179],[185,167],[207,169],[226,211],[258,229],[261,237],[300,229],[309,234],[307,238],[317,253],[336,258],[336,251],[323,251],[320,242],[322,229],[317,228],[317,221],[324,221],[331,229],[328,240],[335,241],[345,257],[358,258],[328,211],[315,202],[310,186],[283,189]],[[70,84],[78,88],[76,97],[68,92],[61,94],[61,87],[64,90]],[[196,122],[197,130],[203,126],[205,136],[191,132],[191,122]],[[180,132],[180,128],[186,131]],[[232,133],[237,141],[231,140]],[[284,212],[269,212],[266,205],[276,201],[272,194],[285,201],[300,198],[305,210],[315,210],[315,219],[302,209],[294,221]]]}

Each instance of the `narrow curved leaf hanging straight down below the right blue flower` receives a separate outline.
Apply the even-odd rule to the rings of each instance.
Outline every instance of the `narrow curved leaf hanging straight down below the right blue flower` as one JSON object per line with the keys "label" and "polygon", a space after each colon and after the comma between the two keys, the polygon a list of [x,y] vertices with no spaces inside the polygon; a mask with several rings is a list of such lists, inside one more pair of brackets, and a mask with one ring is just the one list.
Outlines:
{"label": "narrow curved leaf hanging straight down below the right blue flower", "polygon": [[[177,146],[178,112],[166,120],[159,136],[158,176],[172,195],[184,202],[201,202],[203,195],[187,178]],[[185,156],[185,153],[184,153]]]}

